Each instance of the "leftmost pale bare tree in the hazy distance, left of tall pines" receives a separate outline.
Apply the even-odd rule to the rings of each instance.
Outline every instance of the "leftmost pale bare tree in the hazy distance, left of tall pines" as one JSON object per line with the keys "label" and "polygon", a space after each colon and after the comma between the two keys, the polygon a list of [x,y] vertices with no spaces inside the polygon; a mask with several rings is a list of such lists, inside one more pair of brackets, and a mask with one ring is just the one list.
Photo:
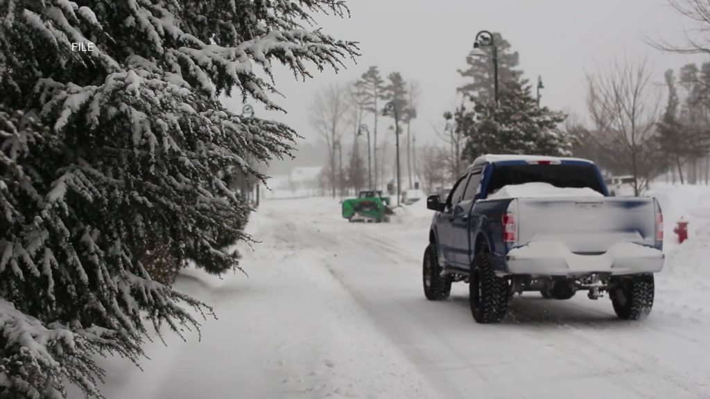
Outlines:
{"label": "leftmost pale bare tree in the hazy distance, left of tall pines", "polygon": [[[310,108],[310,124],[325,139],[328,148],[329,183],[332,196],[335,197],[337,151],[342,150],[342,136],[345,129],[346,113],[349,109],[347,92],[338,84],[331,84],[316,94]],[[342,190],[342,187],[341,187]]]}

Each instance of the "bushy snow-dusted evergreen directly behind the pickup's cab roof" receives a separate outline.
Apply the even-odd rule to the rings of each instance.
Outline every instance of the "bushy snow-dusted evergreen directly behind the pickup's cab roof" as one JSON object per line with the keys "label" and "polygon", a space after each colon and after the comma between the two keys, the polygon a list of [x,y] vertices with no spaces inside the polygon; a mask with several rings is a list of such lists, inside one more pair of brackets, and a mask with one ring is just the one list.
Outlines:
{"label": "bushy snow-dusted evergreen directly behind the pickup's cab roof", "polygon": [[486,153],[571,155],[573,138],[559,125],[567,116],[539,108],[530,84],[510,80],[501,90],[500,106],[476,104],[457,109],[457,129],[466,135],[463,156],[472,161]]}

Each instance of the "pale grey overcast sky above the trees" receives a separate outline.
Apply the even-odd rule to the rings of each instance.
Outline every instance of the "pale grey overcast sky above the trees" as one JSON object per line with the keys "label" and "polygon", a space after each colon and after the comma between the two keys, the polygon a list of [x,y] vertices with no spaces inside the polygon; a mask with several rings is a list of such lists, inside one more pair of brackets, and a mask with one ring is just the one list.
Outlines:
{"label": "pale grey overcast sky above the trees", "polygon": [[[276,74],[276,85],[285,99],[275,97],[288,114],[265,112],[258,116],[284,121],[308,141],[318,140],[308,124],[309,106],[317,90],[332,82],[358,78],[368,66],[378,65],[383,77],[401,72],[422,89],[419,119],[413,124],[417,142],[434,142],[430,123],[439,124],[442,113],[456,99],[463,82],[457,69],[477,32],[501,32],[520,53],[520,69],[535,80],[542,75],[542,104],[552,109],[586,116],[585,73],[614,58],[647,57],[655,81],[663,72],[687,62],[705,62],[706,56],[662,53],[645,43],[645,36],[683,43],[687,21],[665,0],[357,0],[348,1],[351,18],[317,18],[324,31],[336,38],[360,42],[361,57],[347,60],[347,70],[327,71],[315,80],[296,81],[285,69]],[[233,110],[239,99],[227,99]]]}

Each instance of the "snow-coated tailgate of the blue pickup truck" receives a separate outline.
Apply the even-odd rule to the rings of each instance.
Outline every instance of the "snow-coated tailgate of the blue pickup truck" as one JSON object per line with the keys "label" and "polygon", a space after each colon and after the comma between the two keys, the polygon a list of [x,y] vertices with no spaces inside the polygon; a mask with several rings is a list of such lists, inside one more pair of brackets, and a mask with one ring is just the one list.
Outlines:
{"label": "snow-coated tailgate of the blue pickup truck", "polygon": [[655,246],[652,198],[518,198],[510,203],[516,246],[555,241],[572,253],[606,253],[614,244]]}

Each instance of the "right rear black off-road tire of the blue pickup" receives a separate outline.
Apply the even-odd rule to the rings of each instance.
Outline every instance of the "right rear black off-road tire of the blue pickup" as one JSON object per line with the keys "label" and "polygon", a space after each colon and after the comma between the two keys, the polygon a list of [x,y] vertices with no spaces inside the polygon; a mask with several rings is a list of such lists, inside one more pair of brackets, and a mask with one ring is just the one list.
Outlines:
{"label": "right rear black off-road tire of the blue pickup", "polygon": [[651,312],[654,291],[652,274],[634,275],[612,280],[609,297],[620,319],[638,320]]}

